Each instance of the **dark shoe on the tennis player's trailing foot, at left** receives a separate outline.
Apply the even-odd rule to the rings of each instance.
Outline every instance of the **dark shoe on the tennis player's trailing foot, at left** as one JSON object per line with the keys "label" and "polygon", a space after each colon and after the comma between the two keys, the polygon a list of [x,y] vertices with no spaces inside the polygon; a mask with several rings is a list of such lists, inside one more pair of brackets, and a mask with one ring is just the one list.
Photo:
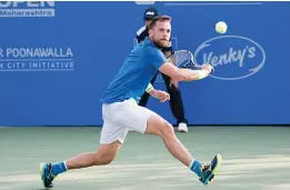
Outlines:
{"label": "dark shoe on the tennis player's trailing foot, at left", "polygon": [[40,176],[44,188],[53,188],[52,181],[54,177],[51,173],[51,163],[40,163]]}

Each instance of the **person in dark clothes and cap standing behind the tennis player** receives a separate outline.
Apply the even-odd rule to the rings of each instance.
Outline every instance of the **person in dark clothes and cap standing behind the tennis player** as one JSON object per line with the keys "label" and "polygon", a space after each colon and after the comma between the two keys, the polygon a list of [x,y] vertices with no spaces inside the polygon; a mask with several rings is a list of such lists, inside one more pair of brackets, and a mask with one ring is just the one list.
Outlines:
{"label": "person in dark clothes and cap standing behind the tennis player", "polygon": [[[157,16],[158,16],[158,11],[154,8],[149,8],[144,11],[144,17],[143,17],[144,26],[141,27],[137,31],[136,38],[137,38],[138,43],[140,43],[141,41],[144,40],[146,37],[148,37],[148,26],[150,24],[152,18],[154,18]],[[173,53],[172,46],[171,46],[171,39],[170,39],[170,46],[167,48],[163,48],[162,51],[167,57],[170,57],[171,53]],[[172,114],[177,119],[178,131],[188,132],[188,121],[184,117],[184,108],[183,108],[180,91],[178,89],[178,82],[171,80],[170,77],[168,77],[163,73],[161,73],[161,74],[164,79],[167,90],[170,94],[170,108],[171,108]],[[158,76],[158,73],[152,79],[151,84],[154,83],[157,76]],[[139,102],[139,106],[146,107],[148,99],[149,99],[149,93],[144,92],[144,94],[142,96],[142,98]]]}

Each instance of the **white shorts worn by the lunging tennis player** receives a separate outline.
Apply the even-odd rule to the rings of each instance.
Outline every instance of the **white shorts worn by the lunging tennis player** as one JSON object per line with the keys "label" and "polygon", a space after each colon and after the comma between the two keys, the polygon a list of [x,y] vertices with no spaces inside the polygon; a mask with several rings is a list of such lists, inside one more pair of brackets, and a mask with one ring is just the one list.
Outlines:
{"label": "white shorts worn by the lunging tennis player", "polygon": [[102,106],[103,126],[100,143],[123,143],[129,131],[144,133],[147,120],[153,111],[138,106],[134,99]]}

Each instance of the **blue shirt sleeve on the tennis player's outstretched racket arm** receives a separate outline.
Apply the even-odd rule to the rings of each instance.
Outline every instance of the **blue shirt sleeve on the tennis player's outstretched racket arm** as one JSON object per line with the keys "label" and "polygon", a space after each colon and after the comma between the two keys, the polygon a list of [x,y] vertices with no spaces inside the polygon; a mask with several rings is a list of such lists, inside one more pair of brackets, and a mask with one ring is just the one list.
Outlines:
{"label": "blue shirt sleeve on the tennis player's outstretched racket arm", "polygon": [[164,62],[169,62],[164,53],[160,49],[153,47],[147,48],[147,59],[148,62],[153,64],[157,69],[159,69]]}

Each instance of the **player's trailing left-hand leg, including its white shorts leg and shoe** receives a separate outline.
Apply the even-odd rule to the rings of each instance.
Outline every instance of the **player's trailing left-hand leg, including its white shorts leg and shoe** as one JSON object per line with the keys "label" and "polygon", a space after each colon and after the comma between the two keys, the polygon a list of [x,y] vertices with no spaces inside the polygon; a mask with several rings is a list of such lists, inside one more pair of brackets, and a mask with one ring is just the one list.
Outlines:
{"label": "player's trailing left-hand leg, including its white shorts leg and shoe", "polygon": [[[96,152],[80,153],[67,161],[60,161],[57,163],[41,163],[41,179],[46,188],[52,188],[52,181],[54,177],[63,173],[68,170],[88,168],[92,166],[108,164],[114,160],[124,138],[128,133],[128,129],[117,124],[118,122],[111,122],[116,117],[113,112],[118,110],[118,104],[103,106],[103,127],[100,138],[100,147]],[[120,112],[120,118],[122,117]]]}

